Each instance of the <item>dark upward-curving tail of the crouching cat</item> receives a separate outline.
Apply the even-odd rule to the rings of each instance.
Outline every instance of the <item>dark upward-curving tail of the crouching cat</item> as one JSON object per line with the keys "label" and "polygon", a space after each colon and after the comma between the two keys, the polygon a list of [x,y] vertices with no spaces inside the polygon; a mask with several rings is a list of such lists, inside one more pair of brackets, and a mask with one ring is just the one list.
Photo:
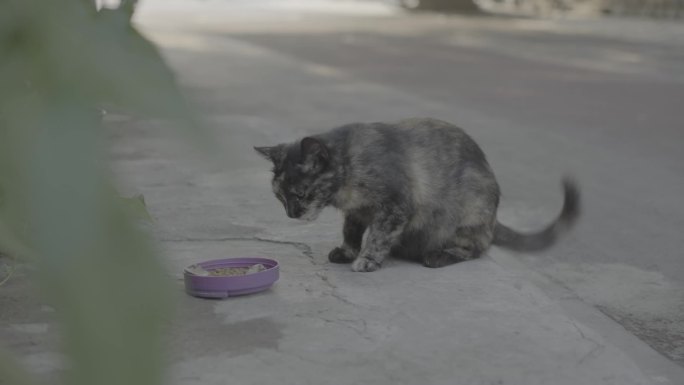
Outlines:
{"label": "dark upward-curving tail of the crouching cat", "polygon": [[497,221],[493,244],[514,251],[541,251],[551,247],[558,235],[575,224],[580,214],[580,194],[575,181],[569,177],[563,179],[563,191],[563,209],[553,223],[535,233],[520,233]]}

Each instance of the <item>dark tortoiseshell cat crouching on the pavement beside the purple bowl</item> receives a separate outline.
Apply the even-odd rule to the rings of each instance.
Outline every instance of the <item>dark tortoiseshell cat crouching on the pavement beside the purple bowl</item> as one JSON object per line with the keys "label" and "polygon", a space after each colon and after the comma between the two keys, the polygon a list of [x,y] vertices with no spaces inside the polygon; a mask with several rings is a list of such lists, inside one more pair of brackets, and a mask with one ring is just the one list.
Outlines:
{"label": "dark tortoiseshell cat crouching on the pavement beside the purple bowl", "polygon": [[290,218],[313,220],[326,206],[344,213],[344,242],[328,258],[354,271],[377,270],[390,255],[443,267],[491,244],[542,250],[579,214],[578,189],[565,180],[551,225],[534,234],[502,225],[499,186],[482,150],[435,119],[349,124],[255,150],[273,162],[273,192]]}

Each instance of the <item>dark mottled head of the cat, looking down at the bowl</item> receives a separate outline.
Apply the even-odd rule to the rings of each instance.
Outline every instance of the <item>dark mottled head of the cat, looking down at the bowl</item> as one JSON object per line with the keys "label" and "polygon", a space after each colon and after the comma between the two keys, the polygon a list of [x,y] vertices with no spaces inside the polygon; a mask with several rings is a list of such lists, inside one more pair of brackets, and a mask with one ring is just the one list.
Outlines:
{"label": "dark mottled head of the cat, looking down at the bowl", "polygon": [[290,218],[311,221],[330,204],[336,190],[330,149],[307,137],[294,144],[254,147],[273,162],[271,185]]}

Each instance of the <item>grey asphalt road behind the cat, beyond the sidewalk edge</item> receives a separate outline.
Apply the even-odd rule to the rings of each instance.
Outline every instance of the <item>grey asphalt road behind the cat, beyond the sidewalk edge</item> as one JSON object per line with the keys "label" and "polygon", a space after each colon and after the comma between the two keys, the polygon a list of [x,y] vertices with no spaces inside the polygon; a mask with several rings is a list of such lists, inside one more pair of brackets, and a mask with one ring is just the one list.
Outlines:
{"label": "grey asphalt road behind the cat, beyond the sidewalk edge", "polygon": [[575,175],[576,230],[549,252],[516,258],[684,364],[684,26],[305,3],[215,1],[211,14],[179,17],[152,2],[140,18],[171,50],[267,52],[322,79],[293,88],[235,62],[216,69],[235,75],[221,92],[190,89],[205,113],[245,117],[253,131],[242,145],[294,139],[281,127],[449,120],[487,154],[504,194],[500,219],[528,229],[556,214],[560,178]]}

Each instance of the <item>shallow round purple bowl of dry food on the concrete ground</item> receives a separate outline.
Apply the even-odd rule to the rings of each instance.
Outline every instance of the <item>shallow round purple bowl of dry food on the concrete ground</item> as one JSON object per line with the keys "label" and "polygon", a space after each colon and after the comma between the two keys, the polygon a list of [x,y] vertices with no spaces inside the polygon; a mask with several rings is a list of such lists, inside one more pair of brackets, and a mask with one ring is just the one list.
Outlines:
{"label": "shallow round purple bowl of dry food on the concrete ground", "polygon": [[[234,276],[202,276],[184,271],[185,291],[195,297],[227,298],[266,290],[278,280],[278,262],[266,258],[228,258],[197,263],[205,270],[226,267],[250,267],[260,263],[266,270]],[[190,267],[188,267],[190,268]]]}

